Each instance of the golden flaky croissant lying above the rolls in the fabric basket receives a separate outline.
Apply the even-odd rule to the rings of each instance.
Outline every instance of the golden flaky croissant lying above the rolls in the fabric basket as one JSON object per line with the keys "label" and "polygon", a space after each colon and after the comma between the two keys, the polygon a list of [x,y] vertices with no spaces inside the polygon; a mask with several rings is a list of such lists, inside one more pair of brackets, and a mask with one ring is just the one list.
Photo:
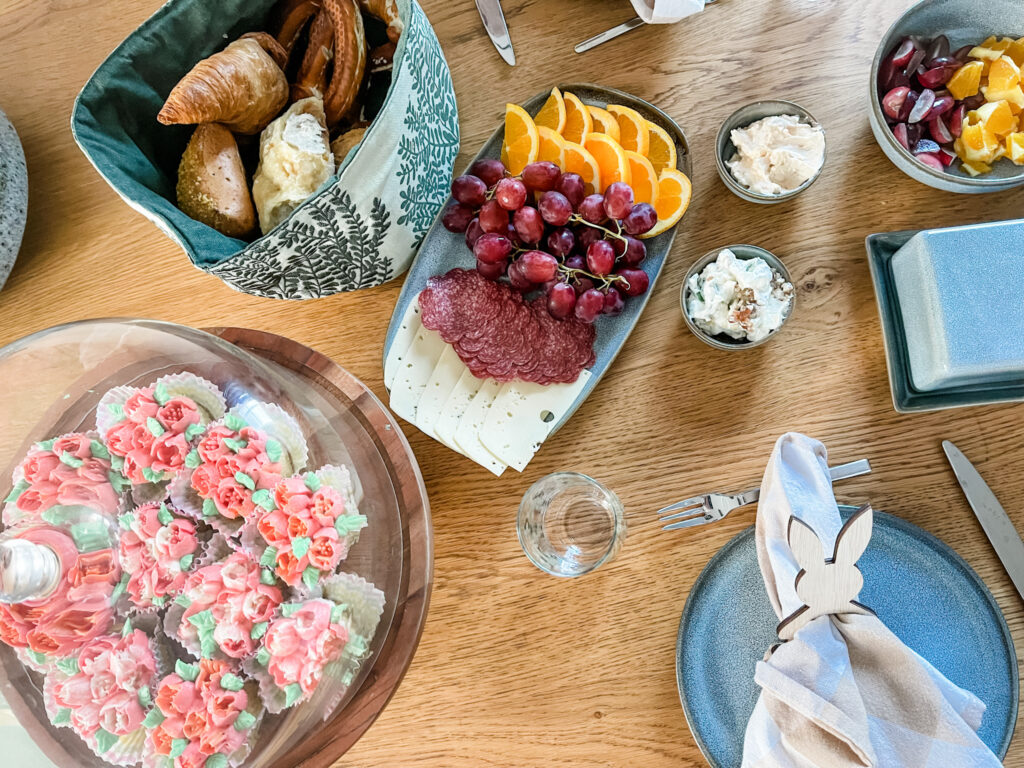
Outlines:
{"label": "golden flaky croissant lying above the rolls in the fabric basket", "polygon": [[258,133],[288,103],[288,80],[258,39],[236,40],[197,63],[157,116],[164,125],[222,123]]}

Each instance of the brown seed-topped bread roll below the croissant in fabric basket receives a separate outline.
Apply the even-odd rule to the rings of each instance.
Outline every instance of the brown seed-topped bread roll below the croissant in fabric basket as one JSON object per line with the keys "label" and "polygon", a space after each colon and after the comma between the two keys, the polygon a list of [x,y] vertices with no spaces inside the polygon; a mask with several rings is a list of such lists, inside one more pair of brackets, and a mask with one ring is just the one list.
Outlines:
{"label": "brown seed-topped bread roll below the croissant in fabric basket", "polygon": [[239,145],[216,123],[199,126],[178,166],[178,208],[229,238],[256,228],[256,212],[246,184]]}

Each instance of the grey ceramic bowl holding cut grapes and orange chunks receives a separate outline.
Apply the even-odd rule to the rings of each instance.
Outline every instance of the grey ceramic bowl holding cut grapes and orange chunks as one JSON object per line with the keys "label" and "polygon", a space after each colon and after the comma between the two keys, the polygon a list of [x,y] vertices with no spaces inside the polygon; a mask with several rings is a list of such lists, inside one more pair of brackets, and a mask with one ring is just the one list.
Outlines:
{"label": "grey ceramic bowl holding cut grapes and orange chunks", "polygon": [[1001,160],[989,173],[971,176],[954,164],[938,170],[919,162],[893,135],[883,110],[878,86],[885,59],[907,36],[932,39],[945,35],[955,50],[977,45],[990,35],[1024,34],[1024,4],[1017,0],[923,0],[900,16],[883,37],[868,80],[868,112],[871,131],[882,151],[901,171],[924,184],[959,194],[1002,191],[1024,184],[1024,167]]}

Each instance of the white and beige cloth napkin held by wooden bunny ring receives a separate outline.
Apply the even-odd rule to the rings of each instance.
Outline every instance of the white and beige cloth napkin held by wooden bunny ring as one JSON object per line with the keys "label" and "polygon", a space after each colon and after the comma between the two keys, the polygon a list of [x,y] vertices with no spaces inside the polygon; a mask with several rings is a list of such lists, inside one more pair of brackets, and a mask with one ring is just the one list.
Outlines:
{"label": "white and beige cloth napkin held by wooden bunny ring", "polygon": [[[779,618],[803,605],[790,518],[830,557],[843,526],[824,445],[779,438],[761,484],[756,541]],[[869,606],[868,606],[869,607]],[[813,618],[764,662],[746,725],[743,768],[997,768],[978,738],[985,705],[946,680],[871,614]]]}

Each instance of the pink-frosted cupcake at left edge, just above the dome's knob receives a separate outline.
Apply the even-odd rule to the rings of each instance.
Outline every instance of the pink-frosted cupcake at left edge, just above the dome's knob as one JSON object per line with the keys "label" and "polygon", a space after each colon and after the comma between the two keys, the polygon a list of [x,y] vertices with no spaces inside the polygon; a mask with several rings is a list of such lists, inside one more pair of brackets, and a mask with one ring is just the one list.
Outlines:
{"label": "pink-frosted cupcake at left edge, just above the dome's knob", "polygon": [[56,506],[83,506],[117,514],[127,486],[113,471],[111,454],[95,433],[73,432],[36,443],[14,470],[4,525],[43,519]]}

